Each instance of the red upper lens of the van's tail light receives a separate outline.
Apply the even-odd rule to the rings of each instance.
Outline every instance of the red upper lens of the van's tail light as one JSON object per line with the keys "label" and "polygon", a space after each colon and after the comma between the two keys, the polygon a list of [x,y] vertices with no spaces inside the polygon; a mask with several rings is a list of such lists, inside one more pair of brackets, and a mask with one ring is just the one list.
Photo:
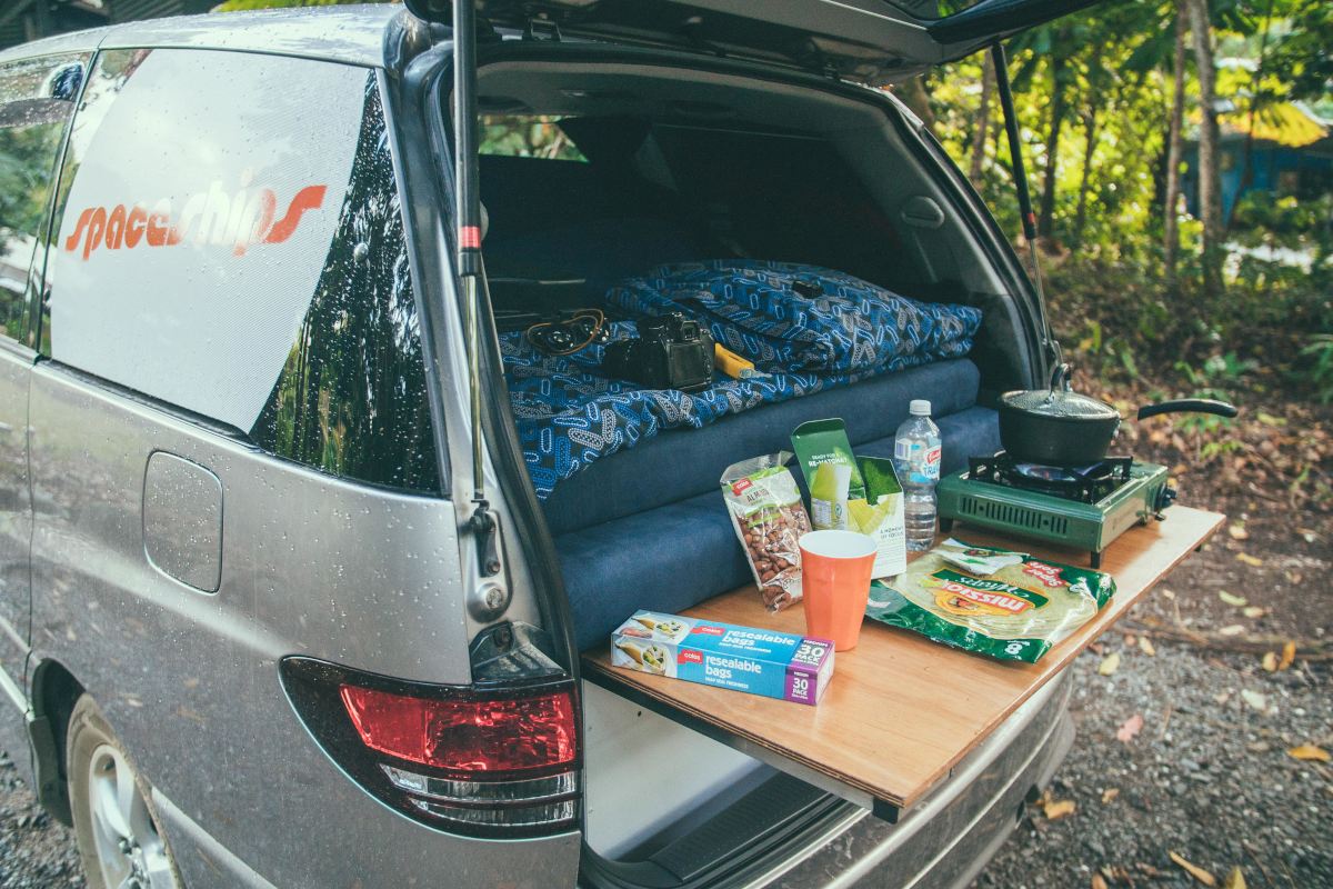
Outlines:
{"label": "red upper lens of the van's tail light", "polygon": [[532,776],[579,757],[569,690],[437,700],[343,685],[340,696],[368,748],[457,777]]}

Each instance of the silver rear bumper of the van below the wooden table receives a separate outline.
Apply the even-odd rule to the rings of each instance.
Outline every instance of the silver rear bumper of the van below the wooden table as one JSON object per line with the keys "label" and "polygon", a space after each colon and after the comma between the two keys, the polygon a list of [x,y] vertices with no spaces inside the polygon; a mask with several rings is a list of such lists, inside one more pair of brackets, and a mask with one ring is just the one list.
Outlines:
{"label": "silver rear bumper of the van below the wooden table", "polygon": [[1074,737],[1069,689],[1066,672],[1018,708],[897,824],[866,813],[842,833],[821,838],[794,868],[754,885],[966,886],[1017,826],[1029,796],[1050,781],[1069,752]]}

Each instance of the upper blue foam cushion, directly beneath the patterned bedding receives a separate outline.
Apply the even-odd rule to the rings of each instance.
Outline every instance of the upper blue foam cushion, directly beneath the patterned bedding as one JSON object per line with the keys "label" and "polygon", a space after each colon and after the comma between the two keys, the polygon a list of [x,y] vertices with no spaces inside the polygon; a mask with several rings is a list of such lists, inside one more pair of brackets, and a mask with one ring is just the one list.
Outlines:
{"label": "upper blue foam cushion, directly beneath the patterned bedding", "polygon": [[966,359],[936,361],[725,416],[701,429],[670,429],[556,485],[543,502],[547,522],[561,534],[716,490],[722,470],[737,460],[790,450],[792,429],[806,420],[842,417],[853,446],[892,439],[912,399],[929,399],[934,416],[948,417],[976,404],[978,380]]}

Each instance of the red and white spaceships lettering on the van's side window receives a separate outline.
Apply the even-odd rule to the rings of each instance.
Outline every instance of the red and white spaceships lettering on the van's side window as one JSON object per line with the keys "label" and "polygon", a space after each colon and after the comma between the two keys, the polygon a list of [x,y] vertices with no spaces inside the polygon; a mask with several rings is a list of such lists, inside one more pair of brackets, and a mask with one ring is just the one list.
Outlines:
{"label": "red and white spaceships lettering on the van's side window", "polygon": [[[244,256],[253,244],[281,244],[301,224],[301,215],[320,209],[327,185],[307,185],[296,192],[287,211],[277,216],[277,195],[272,188],[241,188],[228,193],[221,180],[207,192],[185,199],[180,216],[169,197],[152,209],[144,204],[89,207],[64,239],[65,251],[83,251],[87,260],[95,251],[135,249],[137,247],[175,247],[185,239],[195,244],[229,247],[233,256]],[[81,244],[81,248],[80,248]]]}

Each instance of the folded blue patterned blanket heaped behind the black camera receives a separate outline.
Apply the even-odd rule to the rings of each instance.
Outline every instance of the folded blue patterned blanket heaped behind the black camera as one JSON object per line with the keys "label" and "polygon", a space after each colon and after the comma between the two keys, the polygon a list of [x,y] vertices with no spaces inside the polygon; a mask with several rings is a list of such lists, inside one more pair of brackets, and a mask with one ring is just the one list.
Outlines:
{"label": "folded blue patterned blanket heaped behind the black camera", "polygon": [[845,272],[761,260],[661,265],[613,287],[607,301],[635,315],[684,312],[760,371],[786,373],[964,355],[957,343],[981,321],[977,309],[917,303]]}

